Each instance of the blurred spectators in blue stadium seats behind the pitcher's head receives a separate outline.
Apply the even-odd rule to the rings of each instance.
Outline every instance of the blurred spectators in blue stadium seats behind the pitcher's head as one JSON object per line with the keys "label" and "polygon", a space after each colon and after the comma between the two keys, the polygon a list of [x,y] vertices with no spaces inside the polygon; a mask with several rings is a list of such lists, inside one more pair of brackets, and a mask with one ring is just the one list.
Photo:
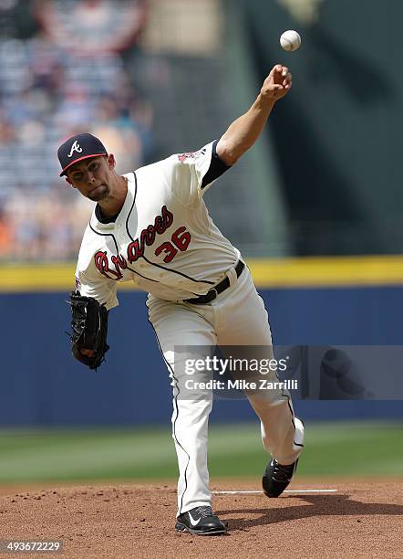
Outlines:
{"label": "blurred spectators in blue stadium seats behind the pitcher's head", "polygon": [[67,50],[39,27],[0,37],[0,259],[75,259],[92,204],[58,177],[58,145],[92,132],[125,173],[147,160],[151,121],[119,54]]}

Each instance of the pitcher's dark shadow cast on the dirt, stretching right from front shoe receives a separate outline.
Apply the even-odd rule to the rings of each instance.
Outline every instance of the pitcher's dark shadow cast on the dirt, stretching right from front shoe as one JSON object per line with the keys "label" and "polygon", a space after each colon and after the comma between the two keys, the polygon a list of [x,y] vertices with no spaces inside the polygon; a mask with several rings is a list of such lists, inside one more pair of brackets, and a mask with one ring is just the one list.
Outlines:
{"label": "pitcher's dark shadow cast on the dirt, stretching right from front shoe", "polygon": [[[294,501],[295,497],[282,497],[281,499],[282,501]],[[349,495],[309,495],[300,497],[300,499],[305,501],[305,504],[271,508],[270,501],[272,500],[268,500],[267,507],[261,509],[221,510],[216,511],[216,514],[223,516],[223,520],[228,522],[231,530],[247,530],[253,526],[289,522],[315,516],[403,515],[403,505],[353,501],[350,500]],[[284,504],[286,505],[286,502]],[[245,518],[231,518],[231,514],[244,514]],[[258,518],[247,518],[249,515],[257,514],[260,514]]]}

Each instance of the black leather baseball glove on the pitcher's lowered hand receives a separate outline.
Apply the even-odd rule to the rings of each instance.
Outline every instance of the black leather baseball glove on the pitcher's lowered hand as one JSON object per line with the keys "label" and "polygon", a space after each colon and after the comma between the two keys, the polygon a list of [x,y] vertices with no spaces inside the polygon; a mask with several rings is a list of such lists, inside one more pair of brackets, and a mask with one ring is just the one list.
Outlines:
{"label": "black leather baseball glove on the pitcher's lowered hand", "polygon": [[[71,291],[71,353],[90,369],[97,369],[109,350],[107,343],[108,311],[93,297],[83,297]],[[89,350],[88,354],[81,350]]]}

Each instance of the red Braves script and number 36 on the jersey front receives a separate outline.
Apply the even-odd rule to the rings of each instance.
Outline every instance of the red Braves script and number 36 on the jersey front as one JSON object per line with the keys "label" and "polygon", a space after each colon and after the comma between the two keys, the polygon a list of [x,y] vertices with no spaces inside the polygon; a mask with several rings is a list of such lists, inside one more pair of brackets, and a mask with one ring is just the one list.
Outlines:
{"label": "red Braves script and number 36 on the jersey front", "polygon": [[[128,264],[132,264],[143,257],[145,248],[153,245],[156,236],[165,233],[165,231],[171,227],[172,223],[173,214],[167,206],[162,206],[161,215],[155,218],[152,225],[149,225],[141,231],[139,238],[134,239],[129,244],[126,258],[121,254],[117,256],[114,255],[110,258],[114,269],[111,269],[107,251],[98,250],[94,255],[95,266],[98,271],[106,278],[109,278],[109,280],[121,280],[123,278],[121,270],[127,269]],[[161,253],[164,253],[166,256],[163,258],[163,261],[171,262],[175,255],[178,254],[178,250],[186,250],[190,242],[191,234],[189,231],[186,230],[186,227],[179,227],[172,234],[171,241],[162,243],[155,249],[154,254],[159,256]]]}

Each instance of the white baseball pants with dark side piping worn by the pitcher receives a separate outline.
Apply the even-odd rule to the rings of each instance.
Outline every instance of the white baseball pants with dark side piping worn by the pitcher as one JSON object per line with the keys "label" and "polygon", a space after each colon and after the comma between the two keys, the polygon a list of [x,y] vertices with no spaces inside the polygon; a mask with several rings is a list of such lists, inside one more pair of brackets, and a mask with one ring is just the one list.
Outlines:
{"label": "white baseball pants with dark side piping worn by the pitcher", "polygon": [[[199,400],[178,395],[174,370],[174,346],[251,345],[271,346],[272,335],[263,300],[256,291],[250,271],[243,269],[236,279],[227,272],[230,287],[208,305],[163,301],[149,295],[149,319],[173,385],[172,437],[175,441],[180,477],[178,515],[194,507],[211,505],[207,469],[208,421],[212,394]],[[271,347],[268,356],[273,357]],[[181,369],[181,373],[183,371]],[[275,374],[273,380],[276,380]],[[289,393],[270,391],[270,396],[248,396],[261,421],[263,447],[280,464],[298,458],[304,442],[304,426],[294,417]]]}

